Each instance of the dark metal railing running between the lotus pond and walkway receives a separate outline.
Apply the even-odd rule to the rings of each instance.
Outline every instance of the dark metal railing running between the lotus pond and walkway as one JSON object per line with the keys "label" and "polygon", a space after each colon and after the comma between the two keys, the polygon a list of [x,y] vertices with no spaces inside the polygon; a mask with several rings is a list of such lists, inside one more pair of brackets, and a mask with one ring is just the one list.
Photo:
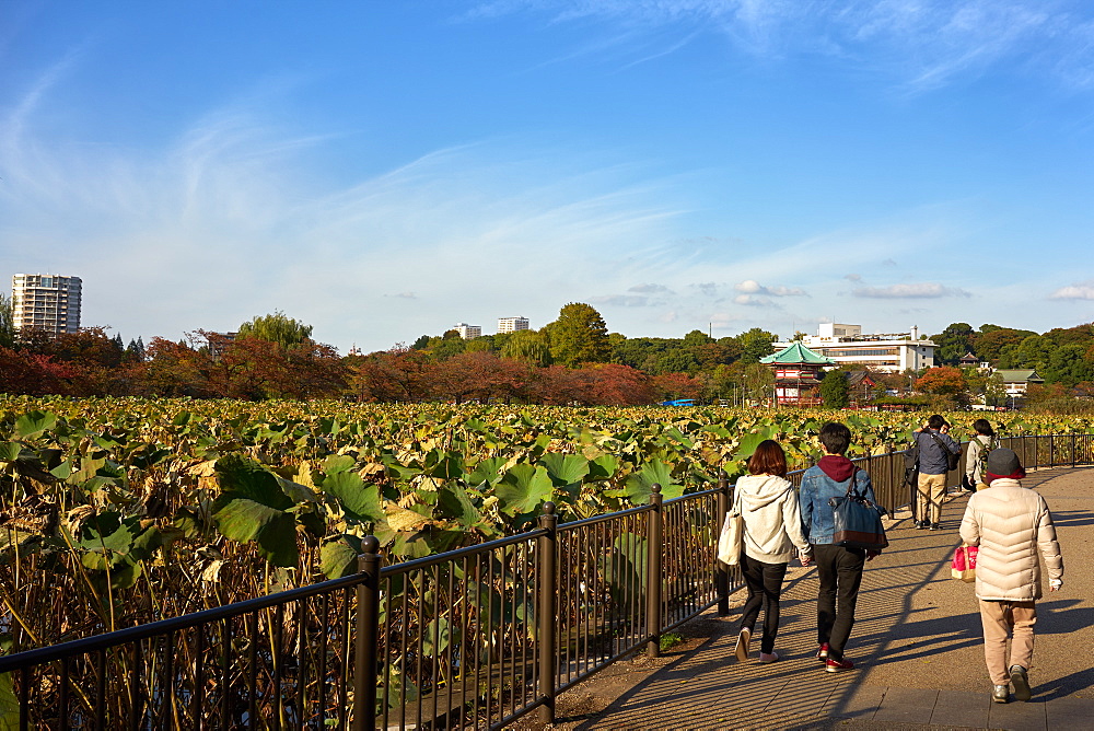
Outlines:
{"label": "dark metal railing running between the lotus pond and walkway", "polygon": [[[1094,436],[1001,440],[1027,467],[1094,462]],[[883,506],[910,500],[905,453],[857,460]],[[959,471],[953,473],[958,476]],[[800,483],[801,472],[790,477]],[[534,530],[259,599],[0,657],[21,729],[501,728],[740,584],[715,561],[732,486]],[[9,716],[4,720],[14,722]],[[14,723],[13,723],[14,724]]]}

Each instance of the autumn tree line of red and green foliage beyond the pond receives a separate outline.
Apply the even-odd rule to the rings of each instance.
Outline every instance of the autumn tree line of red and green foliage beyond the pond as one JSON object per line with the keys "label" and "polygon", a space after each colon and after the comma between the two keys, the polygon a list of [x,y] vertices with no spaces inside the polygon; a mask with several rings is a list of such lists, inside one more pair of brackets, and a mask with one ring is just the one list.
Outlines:
{"label": "autumn tree line of red and green foliage beyond the pond", "polygon": [[[181,340],[154,337],[127,345],[90,327],[51,335],[14,333],[0,297],[0,391],[31,395],[190,396],[197,398],[351,398],[365,402],[446,401],[638,405],[663,399],[770,398],[772,374],[760,359],[778,339],[754,327],[732,337],[694,329],[680,338],[628,338],[610,333],[595,308],[571,302],[539,329],[464,339],[456,330],[422,335],[411,345],[339,356],[312,338],[312,327],[282,312],[256,316],[234,339],[195,330]],[[800,337],[801,334],[795,337]],[[1001,383],[976,368],[971,353],[997,368],[1036,369],[1052,396],[1094,393],[1094,326],[1031,330],[955,323],[931,336],[940,368],[872,374],[878,391],[944,397],[954,405],[1000,401]],[[828,379],[826,403],[848,395]],[[818,390],[819,391],[819,390]],[[826,395],[827,394],[827,395]],[[853,394],[851,394],[853,396]]]}

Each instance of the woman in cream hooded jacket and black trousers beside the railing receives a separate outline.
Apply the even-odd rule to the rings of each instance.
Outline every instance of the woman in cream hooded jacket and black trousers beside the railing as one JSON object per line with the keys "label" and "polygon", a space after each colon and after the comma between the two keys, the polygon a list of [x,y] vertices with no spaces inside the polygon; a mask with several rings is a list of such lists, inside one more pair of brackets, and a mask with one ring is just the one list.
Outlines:
{"label": "woman in cream hooded jacket and black trousers beside the railing", "polygon": [[748,459],[748,475],[734,487],[735,509],[744,523],[741,546],[741,572],[748,589],[741,616],[741,630],[734,654],[748,659],[753,627],[764,610],[764,637],[760,662],[775,662],[775,637],[779,633],[779,595],[787,565],[795,548],[802,566],[808,566],[810,544],[802,534],[802,512],[798,490],[785,478],[787,455],[778,442],[760,442]]}

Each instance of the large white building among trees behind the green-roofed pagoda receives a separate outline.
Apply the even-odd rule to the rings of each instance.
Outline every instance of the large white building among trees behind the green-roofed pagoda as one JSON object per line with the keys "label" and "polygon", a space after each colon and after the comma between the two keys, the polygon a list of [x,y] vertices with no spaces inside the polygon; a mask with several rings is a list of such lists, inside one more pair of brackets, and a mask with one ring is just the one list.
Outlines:
{"label": "large white building among trees behind the green-roofed pagoda", "polygon": [[[919,337],[919,328],[910,333],[863,335],[861,325],[821,323],[816,335],[807,335],[804,345],[837,366],[854,363],[883,373],[903,373],[934,367],[931,340]],[[789,346],[777,343],[776,351]]]}

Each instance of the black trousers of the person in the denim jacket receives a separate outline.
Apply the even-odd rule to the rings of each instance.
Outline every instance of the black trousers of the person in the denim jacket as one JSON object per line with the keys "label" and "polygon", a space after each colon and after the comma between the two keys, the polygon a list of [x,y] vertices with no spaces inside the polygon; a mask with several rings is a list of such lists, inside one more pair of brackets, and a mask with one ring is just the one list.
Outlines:
{"label": "black trousers of the person in the denim jacket", "polygon": [[821,593],[817,595],[817,642],[828,643],[829,658],[842,660],[843,647],[854,626],[854,605],[859,600],[859,584],[862,583],[866,552],[861,548],[815,545],[813,558],[821,579]]}

